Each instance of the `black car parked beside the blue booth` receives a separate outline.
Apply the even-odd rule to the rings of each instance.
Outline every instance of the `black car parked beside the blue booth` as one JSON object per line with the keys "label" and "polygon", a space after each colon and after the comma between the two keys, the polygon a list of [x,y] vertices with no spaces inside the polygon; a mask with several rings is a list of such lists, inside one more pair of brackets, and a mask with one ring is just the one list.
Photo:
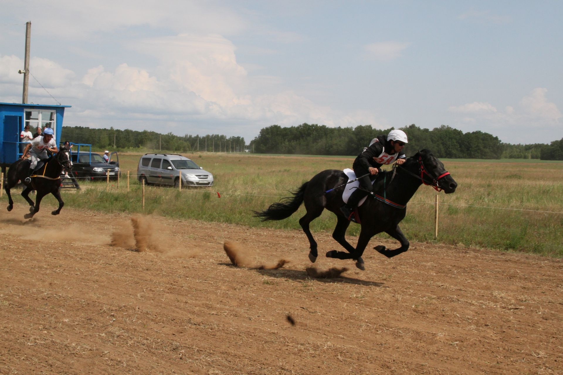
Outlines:
{"label": "black car parked beside the blue booth", "polygon": [[109,171],[109,178],[117,180],[121,173],[117,152],[111,153],[109,163],[106,163],[100,154],[86,151],[73,152],[70,160],[72,160],[72,172],[78,178],[90,177],[91,180],[105,180],[108,178]]}

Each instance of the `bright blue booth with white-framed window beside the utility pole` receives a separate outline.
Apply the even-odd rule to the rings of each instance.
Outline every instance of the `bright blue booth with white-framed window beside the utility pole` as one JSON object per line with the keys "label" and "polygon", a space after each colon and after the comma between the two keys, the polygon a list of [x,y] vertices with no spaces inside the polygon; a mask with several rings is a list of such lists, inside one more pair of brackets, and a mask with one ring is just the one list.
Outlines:
{"label": "bright blue booth with white-framed window beside the utility pole", "polygon": [[[70,106],[51,106],[42,104],[19,104],[0,102],[0,166],[6,173],[9,167],[21,156],[20,133],[29,125],[32,134],[45,128],[53,129],[55,141],[61,142],[62,119],[65,108]],[[22,146],[23,147],[23,146]]]}

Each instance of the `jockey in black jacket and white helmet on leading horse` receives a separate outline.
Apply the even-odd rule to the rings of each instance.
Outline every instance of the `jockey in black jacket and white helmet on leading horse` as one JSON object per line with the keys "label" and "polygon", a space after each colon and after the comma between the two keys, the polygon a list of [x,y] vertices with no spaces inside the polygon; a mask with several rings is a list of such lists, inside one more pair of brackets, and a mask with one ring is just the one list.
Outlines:
{"label": "jockey in black jacket and white helmet on leading horse", "polygon": [[[348,203],[340,208],[348,220],[356,222],[354,209],[361,198],[372,191],[372,181],[379,173],[379,168],[383,164],[391,164],[395,160],[397,164],[405,162],[406,156],[403,153],[405,143],[407,143],[407,139],[403,130],[391,130],[387,136],[379,135],[377,138],[373,138],[369,147],[364,148],[364,151],[356,157],[352,168],[356,177],[364,177],[358,180],[360,186],[348,198]],[[369,175],[365,176],[365,174]]]}

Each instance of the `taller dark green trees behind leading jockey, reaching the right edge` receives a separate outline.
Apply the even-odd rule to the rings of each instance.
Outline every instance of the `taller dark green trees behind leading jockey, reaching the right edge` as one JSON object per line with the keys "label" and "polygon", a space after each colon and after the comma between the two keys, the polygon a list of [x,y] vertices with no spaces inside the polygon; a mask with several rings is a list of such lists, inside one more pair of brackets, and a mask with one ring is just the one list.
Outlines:
{"label": "taller dark green trees behind leading jockey, reaching the right edge", "polygon": [[[287,128],[271,125],[260,130],[258,137],[251,142],[251,150],[258,153],[354,156],[373,138],[392,129],[374,129],[371,125],[355,128],[329,128],[307,123]],[[446,125],[430,130],[412,124],[400,129],[409,138],[405,147],[407,156],[428,148],[437,157],[451,159],[563,160],[563,139],[551,144],[510,144],[479,130],[463,133]]]}

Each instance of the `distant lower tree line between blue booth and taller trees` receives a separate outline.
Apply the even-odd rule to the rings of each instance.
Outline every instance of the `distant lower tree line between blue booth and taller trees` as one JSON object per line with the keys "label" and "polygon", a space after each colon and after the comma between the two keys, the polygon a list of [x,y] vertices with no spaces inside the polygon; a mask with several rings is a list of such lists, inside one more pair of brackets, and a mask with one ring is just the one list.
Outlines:
{"label": "distant lower tree line between blue booth and taller trees", "polygon": [[64,126],[61,143],[91,144],[95,149],[111,150],[166,150],[174,152],[243,152],[243,137],[222,134],[191,135],[183,137],[172,133],[160,134],[148,130],[92,129],[87,126]]}

